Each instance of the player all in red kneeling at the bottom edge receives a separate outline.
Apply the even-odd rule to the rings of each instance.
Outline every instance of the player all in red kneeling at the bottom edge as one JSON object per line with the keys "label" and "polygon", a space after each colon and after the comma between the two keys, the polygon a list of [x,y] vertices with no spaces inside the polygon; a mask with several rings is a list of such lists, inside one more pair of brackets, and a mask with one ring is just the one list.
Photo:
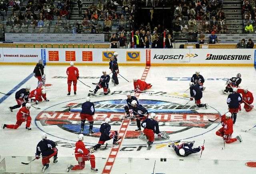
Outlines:
{"label": "player all in red kneeling at the bottom edge", "polygon": [[92,149],[86,149],[85,145],[83,143],[84,135],[79,134],[78,135],[78,141],[76,142],[76,149],[75,149],[75,156],[76,160],[78,161],[78,165],[71,165],[68,164],[68,167],[66,169],[66,172],[69,172],[70,170],[82,170],[85,167],[85,161],[89,161],[91,163],[91,171],[92,172],[98,172],[98,169],[95,168],[95,156],[93,154],[94,150]]}

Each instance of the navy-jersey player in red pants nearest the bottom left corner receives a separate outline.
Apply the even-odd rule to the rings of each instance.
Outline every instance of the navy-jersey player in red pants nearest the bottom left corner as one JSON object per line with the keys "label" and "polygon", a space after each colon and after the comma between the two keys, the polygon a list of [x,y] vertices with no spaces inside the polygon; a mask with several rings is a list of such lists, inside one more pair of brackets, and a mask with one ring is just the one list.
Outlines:
{"label": "navy-jersey player in red pants nearest the bottom left corner", "polygon": [[42,140],[36,146],[36,159],[40,158],[42,153],[42,173],[49,167],[50,158],[53,156],[53,162],[58,162],[57,155],[58,149],[56,148],[56,143],[52,140],[47,139],[46,133],[42,133]]}

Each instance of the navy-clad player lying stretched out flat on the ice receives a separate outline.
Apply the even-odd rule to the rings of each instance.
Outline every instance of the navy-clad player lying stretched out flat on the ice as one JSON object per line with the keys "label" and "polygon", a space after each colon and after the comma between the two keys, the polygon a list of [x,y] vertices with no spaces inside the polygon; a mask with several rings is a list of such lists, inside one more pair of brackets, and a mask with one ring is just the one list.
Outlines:
{"label": "navy-clad player lying stretched out flat on the ice", "polygon": [[182,143],[180,145],[172,143],[171,145],[168,145],[168,147],[172,147],[178,156],[185,157],[192,153],[200,152],[201,149],[202,151],[204,150],[204,146],[198,146],[197,148],[192,149],[194,143],[195,141],[192,141],[191,143]]}

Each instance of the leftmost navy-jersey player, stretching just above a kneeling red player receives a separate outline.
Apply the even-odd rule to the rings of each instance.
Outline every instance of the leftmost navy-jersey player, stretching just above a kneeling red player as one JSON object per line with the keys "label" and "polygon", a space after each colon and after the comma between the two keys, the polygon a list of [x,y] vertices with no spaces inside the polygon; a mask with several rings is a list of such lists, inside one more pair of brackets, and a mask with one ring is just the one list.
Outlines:
{"label": "leftmost navy-jersey player, stretching just above a kneeling red player", "polygon": [[9,109],[12,112],[13,109],[20,108],[20,106],[24,107],[28,102],[28,95],[30,91],[30,86],[26,86],[26,88],[22,88],[15,93],[15,100],[17,105],[10,106]]}

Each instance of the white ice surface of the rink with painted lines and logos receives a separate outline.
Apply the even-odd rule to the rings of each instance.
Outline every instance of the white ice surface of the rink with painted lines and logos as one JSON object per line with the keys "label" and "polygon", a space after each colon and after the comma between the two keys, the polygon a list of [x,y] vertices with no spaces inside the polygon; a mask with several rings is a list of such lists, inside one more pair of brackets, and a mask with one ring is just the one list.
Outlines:
{"label": "white ice surface of the rink with painted lines and logos", "polygon": [[[0,94],[0,125],[15,124],[18,109],[10,112],[9,106],[16,105],[15,92],[20,88],[31,86],[31,90],[36,89],[37,79],[32,72],[35,65],[0,65],[0,92],[12,93],[11,95]],[[74,65],[76,66],[76,64]],[[46,97],[49,102],[41,102],[30,108],[32,117],[32,131],[26,131],[26,123],[14,129],[0,129],[0,172],[8,173],[41,173],[42,161],[34,160],[29,165],[21,162],[29,162],[34,159],[36,145],[41,140],[41,133],[48,134],[48,139],[55,141],[58,148],[58,162],[53,164],[50,159],[50,166],[45,173],[65,173],[68,164],[77,164],[74,158],[74,147],[77,135],[80,131],[81,104],[85,98],[94,90],[92,83],[97,83],[102,75],[102,70],[107,74],[111,71],[108,66],[76,66],[79,69],[81,82],[77,83],[77,95],[74,95],[73,86],[71,95],[67,96],[66,68],[64,66],[46,66]],[[236,141],[231,144],[224,144],[222,137],[218,137],[215,132],[221,128],[220,119],[214,120],[228,111],[226,103],[227,94],[221,90],[225,89],[226,79],[236,77],[237,73],[242,75],[240,88],[247,86],[249,91],[256,92],[256,70],[251,67],[218,67],[218,66],[120,66],[120,74],[126,78],[118,76],[119,85],[114,86],[109,83],[110,94],[105,96],[103,90],[98,90],[96,96],[90,96],[91,102],[95,104],[94,115],[94,135],[89,136],[88,122],[84,129],[84,143],[87,148],[98,143],[99,127],[106,117],[111,119],[112,131],[118,131],[120,145],[112,146],[112,140],[107,141],[108,146],[94,152],[96,156],[96,168],[98,173],[111,174],[172,174],[192,173],[192,174],[255,174],[256,168],[246,165],[247,162],[256,162],[256,128],[248,130],[256,125],[256,111],[253,109],[246,112],[243,109],[238,113],[236,124],[234,125],[233,137],[242,136],[242,143]],[[194,101],[189,101],[189,82],[192,74],[200,70],[204,76],[204,86],[202,103],[208,103],[209,108],[197,108]],[[112,74],[111,74],[112,75]],[[173,141],[182,142],[195,141],[194,147],[203,144],[205,140],[205,150],[191,154],[185,158],[176,155],[174,150],[168,145],[169,140],[156,137],[150,150],[145,145],[146,137],[143,132],[135,132],[135,120],[121,120],[124,115],[126,105],[126,93],[132,92],[133,77],[145,79],[152,84],[152,88],[145,93],[136,94],[138,101],[149,112],[157,114],[156,120],[159,122],[161,132]],[[187,91],[186,91],[187,90]],[[186,91],[186,92],[185,92]],[[132,92],[134,95],[134,92]],[[255,97],[255,96],[254,96]],[[188,104],[183,108],[186,103]],[[254,102],[255,103],[255,102]],[[33,102],[31,104],[34,104]],[[68,112],[68,108],[72,112]],[[118,121],[118,122],[116,122]],[[116,123],[114,123],[116,122]],[[143,130],[143,128],[142,128]],[[28,156],[31,156],[30,158]],[[163,158],[161,162],[160,158]],[[166,162],[165,159],[166,158]],[[86,162],[83,170],[70,171],[69,173],[91,173],[90,162]]]}

